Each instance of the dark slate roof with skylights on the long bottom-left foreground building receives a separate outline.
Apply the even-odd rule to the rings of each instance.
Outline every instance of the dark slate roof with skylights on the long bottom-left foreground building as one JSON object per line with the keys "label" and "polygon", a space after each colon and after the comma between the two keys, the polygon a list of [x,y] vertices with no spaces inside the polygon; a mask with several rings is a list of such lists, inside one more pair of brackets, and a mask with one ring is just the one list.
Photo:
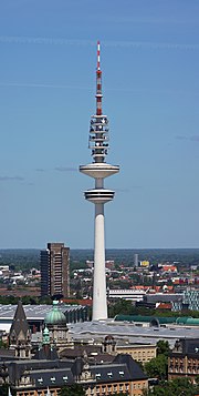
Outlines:
{"label": "dark slate roof with skylights on the long bottom-left foreground building", "polygon": [[[32,378],[35,387],[63,386],[76,382],[84,366],[84,359],[74,361],[18,361],[8,362],[9,380],[14,384],[23,373]],[[86,384],[108,384],[128,380],[147,379],[140,367],[129,355],[118,355],[108,364],[92,364],[88,366],[92,377]],[[31,388],[31,385],[29,386]]]}

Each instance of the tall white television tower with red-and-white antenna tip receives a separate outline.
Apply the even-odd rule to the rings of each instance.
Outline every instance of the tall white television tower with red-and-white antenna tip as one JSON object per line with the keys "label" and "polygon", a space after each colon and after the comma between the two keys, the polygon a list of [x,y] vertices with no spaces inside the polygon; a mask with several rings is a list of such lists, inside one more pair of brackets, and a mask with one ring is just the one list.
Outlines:
{"label": "tall white television tower with red-and-white antenna tip", "polygon": [[109,148],[108,119],[102,111],[102,71],[100,62],[100,41],[97,42],[96,68],[96,114],[91,116],[90,143],[93,162],[81,165],[80,172],[95,179],[95,189],[86,190],[84,196],[95,204],[93,321],[107,318],[104,204],[113,201],[115,192],[104,189],[104,179],[119,172],[119,166],[106,163]]}

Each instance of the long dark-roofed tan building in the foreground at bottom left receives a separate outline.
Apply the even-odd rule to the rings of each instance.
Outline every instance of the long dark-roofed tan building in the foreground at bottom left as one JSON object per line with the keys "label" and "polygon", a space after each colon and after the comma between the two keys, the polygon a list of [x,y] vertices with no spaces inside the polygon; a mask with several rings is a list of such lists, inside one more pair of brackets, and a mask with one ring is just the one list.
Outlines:
{"label": "long dark-roofed tan building in the foreground at bottom left", "polygon": [[46,396],[48,390],[51,396],[59,396],[63,386],[75,384],[83,386],[86,396],[121,393],[142,396],[148,388],[147,376],[128,355],[119,355],[113,363],[97,365],[90,364],[86,356],[74,362],[61,362],[55,356],[46,358],[45,348],[42,349],[39,359],[4,364],[11,390],[14,389],[17,396]]}

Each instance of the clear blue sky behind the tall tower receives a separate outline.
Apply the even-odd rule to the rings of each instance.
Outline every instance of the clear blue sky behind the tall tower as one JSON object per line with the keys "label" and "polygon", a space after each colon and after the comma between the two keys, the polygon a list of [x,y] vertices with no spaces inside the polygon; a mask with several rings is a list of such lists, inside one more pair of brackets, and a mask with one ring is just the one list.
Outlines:
{"label": "clear blue sky behind the tall tower", "polygon": [[198,247],[199,1],[2,0],[0,247],[93,247],[96,41],[107,162],[107,247]]}

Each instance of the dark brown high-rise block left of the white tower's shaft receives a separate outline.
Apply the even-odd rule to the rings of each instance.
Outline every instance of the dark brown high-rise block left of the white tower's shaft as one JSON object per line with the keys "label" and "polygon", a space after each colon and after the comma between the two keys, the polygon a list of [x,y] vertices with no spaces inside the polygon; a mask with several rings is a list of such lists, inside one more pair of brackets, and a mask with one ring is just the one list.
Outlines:
{"label": "dark brown high-rise block left of the white tower's shaft", "polygon": [[70,296],[70,248],[64,243],[48,243],[41,251],[41,295]]}

